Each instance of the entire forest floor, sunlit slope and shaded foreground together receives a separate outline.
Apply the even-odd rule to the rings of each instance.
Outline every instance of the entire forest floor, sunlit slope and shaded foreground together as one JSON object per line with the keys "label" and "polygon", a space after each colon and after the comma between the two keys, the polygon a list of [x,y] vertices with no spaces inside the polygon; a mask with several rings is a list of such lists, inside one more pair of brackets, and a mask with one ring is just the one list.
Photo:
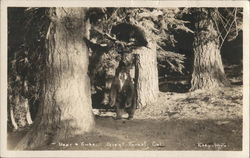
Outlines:
{"label": "entire forest floor, sunlit slope and shaded foreground together", "polygon": [[[157,103],[137,110],[133,120],[99,112],[93,132],[37,150],[241,150],[243,86],[235,69],[225,68],[231,87],[180,93],[161,86]],[[9,134],[10,149],[21,135]]]}

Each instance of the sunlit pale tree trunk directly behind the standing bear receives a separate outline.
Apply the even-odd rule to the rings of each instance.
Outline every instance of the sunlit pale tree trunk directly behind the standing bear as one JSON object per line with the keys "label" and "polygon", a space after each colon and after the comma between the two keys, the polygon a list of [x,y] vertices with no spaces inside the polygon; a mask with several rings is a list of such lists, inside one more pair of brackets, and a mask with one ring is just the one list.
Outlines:
{"label": "sunlit pale tree trunk directly behind the standing bear", "polygon": [[144,108],[153,104],[158,97],[158,69],[156,57],[156,43],[149,41],[148,47],[135,50],[135,79],[137,90],[137,105]]}

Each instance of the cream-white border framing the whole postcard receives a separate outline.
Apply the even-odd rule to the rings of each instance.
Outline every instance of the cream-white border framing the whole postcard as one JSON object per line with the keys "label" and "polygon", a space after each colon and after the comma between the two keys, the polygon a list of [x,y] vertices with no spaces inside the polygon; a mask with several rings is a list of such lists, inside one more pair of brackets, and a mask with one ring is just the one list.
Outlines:
{"label": "cream-white border framing the whole postcard", "polygon": [[[7,7],[243,7],[242,151],[9,151],[7,150]],[[1,157],[249,157],[249,1],[2,0],[1,1]]]}

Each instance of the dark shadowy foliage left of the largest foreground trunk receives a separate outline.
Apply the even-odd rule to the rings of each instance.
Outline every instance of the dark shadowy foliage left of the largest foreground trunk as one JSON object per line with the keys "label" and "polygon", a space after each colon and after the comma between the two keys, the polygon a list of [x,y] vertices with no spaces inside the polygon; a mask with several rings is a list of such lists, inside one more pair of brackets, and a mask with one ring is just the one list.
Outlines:
{"label": "dark shadowy foliage left of the largest foreground trunk", "polygon": [[[18,94],[27,98],[33,120],[44,82],[45,38],[50,22],[47,9],[8,7],[8,97]],[[28,91],[24,89],[24,81]]]}

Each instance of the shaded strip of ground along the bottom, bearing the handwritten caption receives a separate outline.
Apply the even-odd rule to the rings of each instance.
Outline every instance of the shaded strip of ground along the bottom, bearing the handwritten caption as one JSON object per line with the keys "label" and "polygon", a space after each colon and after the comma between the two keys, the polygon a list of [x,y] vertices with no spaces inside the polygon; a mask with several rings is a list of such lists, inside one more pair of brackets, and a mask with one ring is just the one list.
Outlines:
{"label": "shaded strip of ground along the bottom, bearing the handwritten caption", "polygon": [[[9,148],[21,135],[11,133]],[[242,120],[114,120],[97,117],[95,131],[35,150],[241,150]]]}

